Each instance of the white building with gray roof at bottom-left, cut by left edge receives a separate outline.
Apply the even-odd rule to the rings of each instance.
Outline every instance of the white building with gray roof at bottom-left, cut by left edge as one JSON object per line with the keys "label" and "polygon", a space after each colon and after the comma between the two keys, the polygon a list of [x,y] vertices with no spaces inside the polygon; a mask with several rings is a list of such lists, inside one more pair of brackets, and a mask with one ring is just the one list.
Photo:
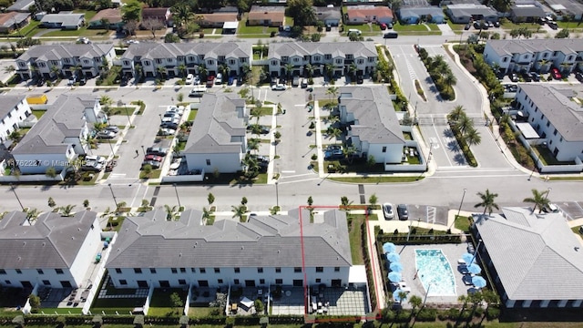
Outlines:
{"label": "white building with gray roof at bottom-left, cut by left edge", "polygon": [[47,212],[32,222],[26,212],[6,213],[0,221],[0,285],[78,288],[102,246],[97,212]]}

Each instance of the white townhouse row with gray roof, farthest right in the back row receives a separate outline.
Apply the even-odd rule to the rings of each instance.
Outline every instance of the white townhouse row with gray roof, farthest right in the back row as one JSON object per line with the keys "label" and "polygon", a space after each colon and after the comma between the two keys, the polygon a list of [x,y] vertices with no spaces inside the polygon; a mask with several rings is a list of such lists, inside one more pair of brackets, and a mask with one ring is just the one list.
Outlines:
{"label": "white townhouse row with gray roof, farthest right in the back row", "polygon": [[546,73],[550,67],[570,73],[583,63],[583,43],[567,38],[488,40],[484,60],[505,73],[530,70]]}

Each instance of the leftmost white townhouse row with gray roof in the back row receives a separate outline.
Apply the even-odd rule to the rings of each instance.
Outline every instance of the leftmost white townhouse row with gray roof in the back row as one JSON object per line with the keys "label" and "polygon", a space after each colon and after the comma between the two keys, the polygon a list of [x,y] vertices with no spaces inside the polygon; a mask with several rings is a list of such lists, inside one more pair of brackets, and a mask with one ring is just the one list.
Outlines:
{"label": "leftmost white townhouse row with gray roof in the back row", "polygon": [[23,80],[32,77],[70,77],[74,72],[97,77],[101,67],[111,67],[116,51],[113,45],[31,46],[16,58],[16,71]]}

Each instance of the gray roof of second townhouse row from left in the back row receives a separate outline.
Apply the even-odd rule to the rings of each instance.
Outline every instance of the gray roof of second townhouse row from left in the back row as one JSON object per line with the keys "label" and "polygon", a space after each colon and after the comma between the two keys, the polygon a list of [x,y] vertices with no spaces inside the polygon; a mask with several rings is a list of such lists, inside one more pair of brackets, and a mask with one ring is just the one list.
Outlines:
{"label": "gray roof of second townhouse row from left in the back row", "polygon": [[198,56],[217,58],[251,57],[251,44],[247,42],[199,42],[188,44],[133,44],[122,58],[176,58],[177,56]]}

